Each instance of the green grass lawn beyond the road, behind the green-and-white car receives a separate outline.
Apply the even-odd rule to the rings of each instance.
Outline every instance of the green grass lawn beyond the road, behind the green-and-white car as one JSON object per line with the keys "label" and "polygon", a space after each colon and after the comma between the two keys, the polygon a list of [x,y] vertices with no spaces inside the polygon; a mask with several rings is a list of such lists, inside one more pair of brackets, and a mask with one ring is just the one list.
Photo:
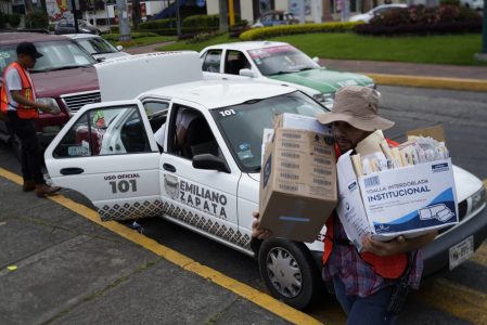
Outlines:
{"label": "green grass lawn beyond the road, behind the green-and-white car", "polygon": [[[474,53],[482,49],[480,34],[372,37],[353,32],[321,32],[282,36],[269,40],[292,43],[309,56],[341,60],[396,61],[430,64],[485,65],[474,60]],[[205,42],[187,44],[178,41],[159,51],[201,51],[210,44],[239,41],[227,35]]]}

